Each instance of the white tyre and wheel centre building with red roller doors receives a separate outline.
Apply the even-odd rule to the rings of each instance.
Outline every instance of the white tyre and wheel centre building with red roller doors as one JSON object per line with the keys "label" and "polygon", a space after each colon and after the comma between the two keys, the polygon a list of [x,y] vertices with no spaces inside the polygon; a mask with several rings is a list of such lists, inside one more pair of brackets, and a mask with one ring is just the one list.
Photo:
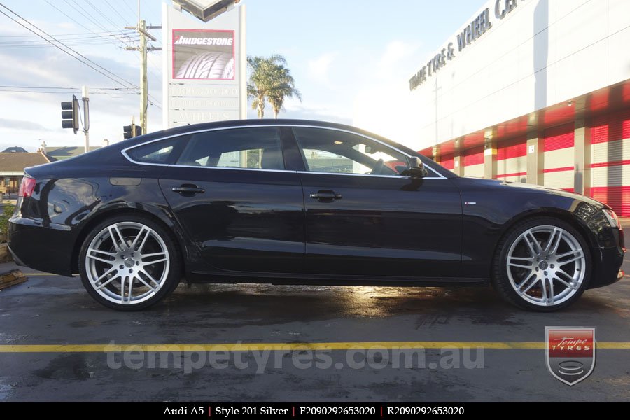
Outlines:
{"label": "white tyre and wheel centre building with red roller doors", "polygon": [[627,0],[487,1],[409,75],[407,146],[630,216],[629,16]]}

